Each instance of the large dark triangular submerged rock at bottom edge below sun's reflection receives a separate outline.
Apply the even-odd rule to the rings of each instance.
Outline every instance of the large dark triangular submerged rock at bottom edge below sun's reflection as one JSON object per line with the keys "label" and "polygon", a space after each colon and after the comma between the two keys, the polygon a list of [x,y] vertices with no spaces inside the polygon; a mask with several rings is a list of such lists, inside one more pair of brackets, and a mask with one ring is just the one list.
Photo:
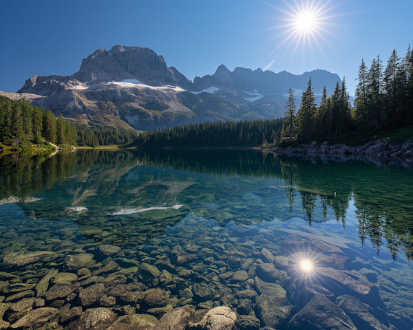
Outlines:
{"label": "large dark triangular submerged rock at bottom edge below sun's reflection", "polygon": [[348,315],[328,298],[316,294],[310,303],[291,318],[288,330],[357,329]]}

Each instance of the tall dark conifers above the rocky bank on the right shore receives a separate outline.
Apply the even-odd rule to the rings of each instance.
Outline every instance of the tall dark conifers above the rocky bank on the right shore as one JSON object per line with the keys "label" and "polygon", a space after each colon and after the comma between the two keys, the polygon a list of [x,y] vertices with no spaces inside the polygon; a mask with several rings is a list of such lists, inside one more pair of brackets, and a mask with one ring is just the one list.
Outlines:
{"label": "tall dark conifers above the rocky bank on the right shore", "polygon": [[337,82],[331,96],[324,87],[318,107],[310,78],[297,113],[290,89],[282,136],[303,140],[354,131],[374,135],[413,125],[413,51],[410,45],[404,58],[393,50],[385,67],[379,56],[374,58],[370,69],[362,60],[357,80],[354,107],[345,78],[341,85]]}

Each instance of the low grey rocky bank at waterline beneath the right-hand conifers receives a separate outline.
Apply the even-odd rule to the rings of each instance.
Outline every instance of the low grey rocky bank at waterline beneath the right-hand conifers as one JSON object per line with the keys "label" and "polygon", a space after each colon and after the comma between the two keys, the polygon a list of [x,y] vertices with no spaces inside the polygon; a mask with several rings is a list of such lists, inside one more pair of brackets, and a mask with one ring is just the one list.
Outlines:
{"label": "low grey rocky bank at waterline beneath the right-hand conifers", "polygon": [[346,144],[301,144],[296,147],[277,147],[273,149],[278,155],[355,155],[375,157],[403,157],[413,159],[413,140],[407,142],[382,142],[374,141],[363,146],[346,146]]}

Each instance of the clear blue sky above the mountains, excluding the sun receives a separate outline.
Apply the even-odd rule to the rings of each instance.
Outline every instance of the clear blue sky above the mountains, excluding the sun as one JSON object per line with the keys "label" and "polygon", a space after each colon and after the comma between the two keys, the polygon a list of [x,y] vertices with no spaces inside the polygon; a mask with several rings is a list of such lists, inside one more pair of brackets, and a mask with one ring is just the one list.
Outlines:
{"label": "clear blue sky above the mountains, excluding the sun", "polygon": [[370,65],[380,55],[385,64],[393,48],[404,56],[413,43],[413,0],[314,3],[326,10],[319,44],[296,40],[288,47],[280,45],[288,36],[282,25],[293,10],[278,0],[1,0],[0,90],[17,91],[36,74],[73,74],[83,58],[118,44],[149,47],[191,80],[221,64],[233,70],[273,63],[273,72],[346,76],[353,95],[361,58]]}

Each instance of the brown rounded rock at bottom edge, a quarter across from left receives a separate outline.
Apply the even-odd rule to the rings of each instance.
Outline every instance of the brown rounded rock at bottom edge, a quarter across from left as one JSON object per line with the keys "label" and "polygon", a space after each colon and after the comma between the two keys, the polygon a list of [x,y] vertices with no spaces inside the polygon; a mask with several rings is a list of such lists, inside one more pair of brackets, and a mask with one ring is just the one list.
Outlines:
{"label": "brown rounded rock at bottom edge, a quarter across from left", "polygon": [[85,311],[78,319],[73,330],[105,330],[112,325],[118,316],[107,308],[98,307],[93,311]]}

